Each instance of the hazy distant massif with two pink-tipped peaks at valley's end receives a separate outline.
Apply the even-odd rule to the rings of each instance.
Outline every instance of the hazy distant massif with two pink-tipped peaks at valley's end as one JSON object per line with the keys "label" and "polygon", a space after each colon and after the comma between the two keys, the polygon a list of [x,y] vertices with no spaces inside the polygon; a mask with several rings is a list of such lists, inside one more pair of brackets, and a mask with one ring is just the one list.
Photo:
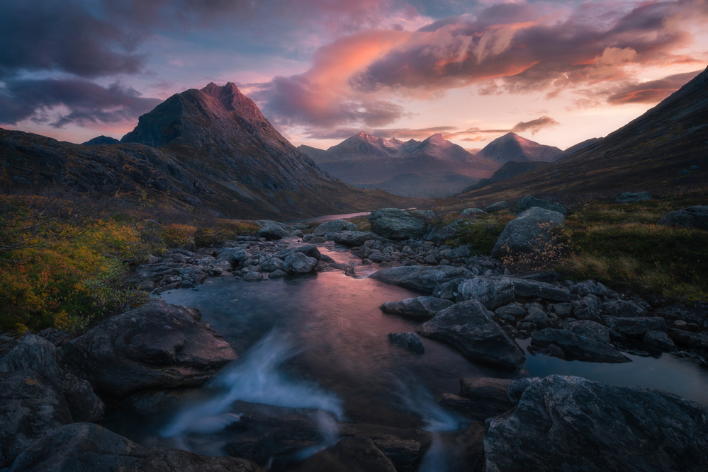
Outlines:
{"label": "hazy distant massif with two pink-tipped peaks at valley's end", "polygon": [[327,151],[300,149],[308,151],[320,168],[345,182],[403,196],[453,195],[498,168],[497,163],[469,153],[441,134],[422,142],[403,142],[361,132]]}

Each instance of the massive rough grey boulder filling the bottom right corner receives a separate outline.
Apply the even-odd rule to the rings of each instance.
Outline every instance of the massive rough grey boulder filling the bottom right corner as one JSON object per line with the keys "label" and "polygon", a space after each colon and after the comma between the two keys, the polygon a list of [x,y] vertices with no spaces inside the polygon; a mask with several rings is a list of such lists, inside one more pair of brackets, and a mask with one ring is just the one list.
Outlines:
{"label": "massive rough grey boulder filling the bottom right corner", "polygon": [[487,471],[704,471],[708,407],[650,388],[548,376],[490,421]]}

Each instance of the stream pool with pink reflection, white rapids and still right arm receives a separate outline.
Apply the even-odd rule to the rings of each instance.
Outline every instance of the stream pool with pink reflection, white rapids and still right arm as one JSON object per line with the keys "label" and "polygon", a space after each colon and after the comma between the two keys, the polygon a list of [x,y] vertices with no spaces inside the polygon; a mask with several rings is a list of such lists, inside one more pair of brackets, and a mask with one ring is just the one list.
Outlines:
{"label": "stream pool with pink reflection, white rapids and still right arm", "polygon": [[463,377],[573,374],[708,403],[708,368],[690,357],[628,354],[634,362],[594,364],[527,355],[522,369],[504,372],[468,362],[425,338],[425,354],[405,352],[389,343],[388,333],[412,331],[419,323],[386,315],[379,306],[418,294],[366,279],[376,266],[359,265],[344,248],[330,243],[320,251],[357,264],[356,275],[333,271],[262,282],[223,277],[196,290],[162,294],[169,303],[198,308],[240,358],[202,389],[199,400],[153,417],[109,415],[106,425],[144,444],[225,454],[223,432],[240,421],[239,401],[308,408],[320,412],[312,416],[322,441],[300,451],[300,459],[334,444],[343,423],[373,423],[435,432],[420,470],[439,471],[454,470],[442,461],[447,454],[440,432],[463,430],[468,420],[441,408],[435,396],[459,393]]}

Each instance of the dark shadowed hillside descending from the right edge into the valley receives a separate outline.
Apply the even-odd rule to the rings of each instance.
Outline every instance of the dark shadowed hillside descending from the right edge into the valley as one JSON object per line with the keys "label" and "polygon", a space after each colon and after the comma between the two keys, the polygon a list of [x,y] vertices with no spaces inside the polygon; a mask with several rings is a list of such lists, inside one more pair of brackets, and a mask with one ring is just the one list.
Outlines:
{"label": "dark shadowed hillside descending from the right edge into the valley", "polygon": [[549,166],[456,195],[448,202],[483,205],[524,195],[609,197],[624,191],[705,188],[706,156],[708,69],[607,137]]}

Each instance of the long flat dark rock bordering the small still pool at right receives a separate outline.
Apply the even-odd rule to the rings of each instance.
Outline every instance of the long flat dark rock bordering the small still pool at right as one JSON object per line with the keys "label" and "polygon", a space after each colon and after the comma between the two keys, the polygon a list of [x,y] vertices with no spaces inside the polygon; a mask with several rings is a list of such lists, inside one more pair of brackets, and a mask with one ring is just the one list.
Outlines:
{"label": "long flat dark rock bordering the small still pool at right", "polygon": [[[564,329],[546,328],[536,331],[531,335],[531,345],[534,347],[548,347],[554,345],[563,352],[562,356],[556,355],[566,360],[580,360],[586,362],[631,362],[629,357],[621,352],[609,347],[606,344],[598,343],[594,339],[577,335]],[[550,352],[556,354],[555,351]]]}

